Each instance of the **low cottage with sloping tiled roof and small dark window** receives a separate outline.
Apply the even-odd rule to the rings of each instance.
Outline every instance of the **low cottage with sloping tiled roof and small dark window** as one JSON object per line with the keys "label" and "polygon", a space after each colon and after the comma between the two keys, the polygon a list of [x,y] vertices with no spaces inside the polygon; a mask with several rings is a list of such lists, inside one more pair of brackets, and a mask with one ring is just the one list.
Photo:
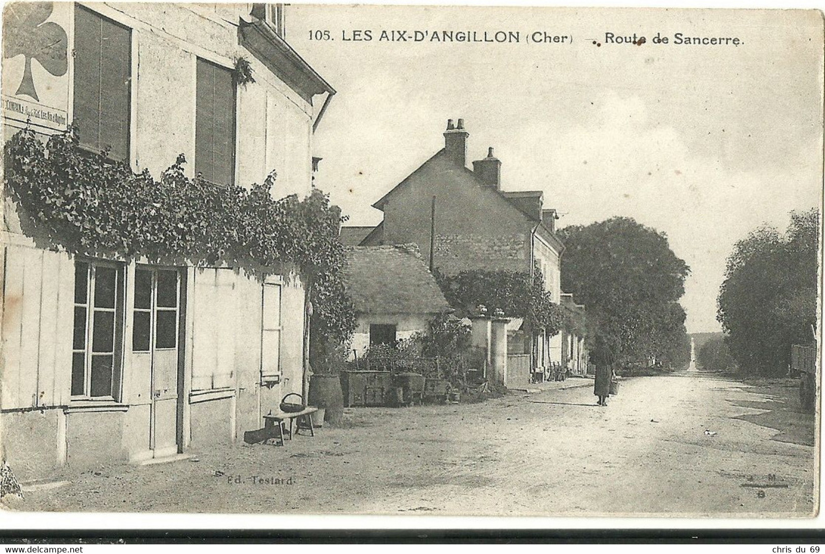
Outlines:
{"label": "low cottage with sloping tiled roof and small dark window", "polygon": [[450,312],[415,245],[352,246],[344,282],[356,307],[352,350],[389,344],[427,331],[427,322]]}

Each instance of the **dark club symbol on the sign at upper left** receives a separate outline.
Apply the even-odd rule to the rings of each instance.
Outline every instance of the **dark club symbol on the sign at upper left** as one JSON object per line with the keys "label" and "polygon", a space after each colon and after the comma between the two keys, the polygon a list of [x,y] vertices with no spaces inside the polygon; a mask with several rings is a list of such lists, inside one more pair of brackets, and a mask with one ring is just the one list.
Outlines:
{"label": "dark club symbol on the sign at upper left", "polygon": [[16,2],[7,6],[3,14],[3,58],[26,56],[23,80],[15,94],[31,96],[35,101],[40,98],[31,74],[31,60],[36,59],[54,77],[64,75],[68,68],[66,31],[57,23],[44,22],[53,9],[52,2]]}

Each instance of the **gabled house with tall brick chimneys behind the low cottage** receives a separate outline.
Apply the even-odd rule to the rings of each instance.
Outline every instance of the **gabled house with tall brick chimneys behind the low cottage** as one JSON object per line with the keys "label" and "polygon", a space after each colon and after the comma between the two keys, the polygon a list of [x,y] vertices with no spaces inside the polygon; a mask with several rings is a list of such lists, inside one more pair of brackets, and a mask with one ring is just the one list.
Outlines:
{"label": "gabled house with tall brick chimneys behind the low cottage", "polygon": [[[373,204],[384,212],[384,220],[375,228],[351,228],[342,236],[351,241],[360,238],[361,246],[415,243],[431,268],[447,275],[461,270],[532,274],[538,267],[545,289],[560,303],[564,245],[555,234],[555,209],[544,207],[541,190],[503,190],[502,162],[493,148],[469,169],[468,138],[463,120],[456,124],[449,120],[444,148]],[[563,364],[560,333],[548,336],[543,330],[531,330],[528,336],[520,336],[519,332],[512,331],[508,350],[521,357],[520,364],[526,355],[533,373]]]}

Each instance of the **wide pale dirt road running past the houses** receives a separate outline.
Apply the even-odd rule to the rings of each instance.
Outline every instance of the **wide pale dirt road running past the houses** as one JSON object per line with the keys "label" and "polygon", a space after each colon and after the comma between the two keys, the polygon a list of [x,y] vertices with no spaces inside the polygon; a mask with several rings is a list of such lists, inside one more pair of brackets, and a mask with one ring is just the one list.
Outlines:
{"label": "wide pale dirt road running past the houses", "polygon": [[[332,514],[760,514],[815,511],[813,415],[794,389],[705,373],[592,381],[473,405],[351,410],[284,448],[101,467],[16,509]],[[765,383],[763,383],[765,384]],[[584,385],[584,386],[582,386]],[[705,433],[707,430],[709,433]],[[769,477],[773,476],[773,477]]]}

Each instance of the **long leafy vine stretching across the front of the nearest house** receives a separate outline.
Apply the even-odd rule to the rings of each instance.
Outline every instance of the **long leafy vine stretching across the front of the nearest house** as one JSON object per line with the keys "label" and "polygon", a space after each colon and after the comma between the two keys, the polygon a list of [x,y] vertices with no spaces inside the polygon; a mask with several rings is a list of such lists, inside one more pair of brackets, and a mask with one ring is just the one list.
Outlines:
{"label": "long leafy vine stretching across the front of the nearest house", "polygon": [[79,148],[69,129],[43,143],[22,129],[6,144],[6,185],[37,235],[74,254],[227,265],[261,278],[296,270],[311,290],[311,326],[338,341],[355,329],[341,279],[341,213],[328,195],[273,200],[273,171],[249,189],[184,173],[183,154],[160,177]]}

